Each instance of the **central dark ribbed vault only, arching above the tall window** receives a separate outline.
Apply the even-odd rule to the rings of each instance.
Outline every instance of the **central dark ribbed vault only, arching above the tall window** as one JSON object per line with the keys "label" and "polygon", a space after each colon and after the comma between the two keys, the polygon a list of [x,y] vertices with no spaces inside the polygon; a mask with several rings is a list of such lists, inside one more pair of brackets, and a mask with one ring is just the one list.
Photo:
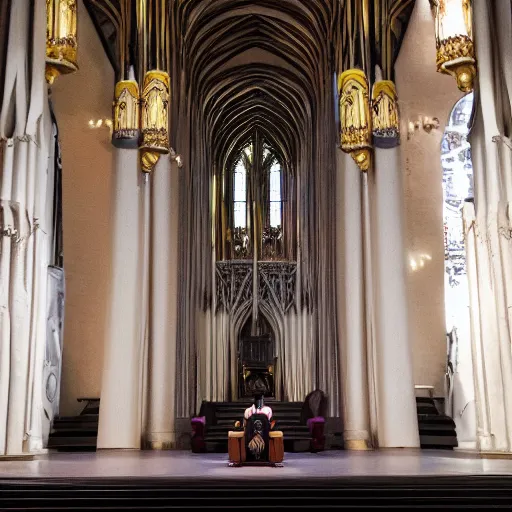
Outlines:
{"label": "central dark ribbed vault only, arching above the tall window", "polygon": [[295,167],[301,146],[312,138],[321,89],[329,80],[325,71],[337,5],[333,0],[175,2],[173,46],[184,72],[179,90],[194,98],[192,108],[203,119],[217,168],[255,131]]}

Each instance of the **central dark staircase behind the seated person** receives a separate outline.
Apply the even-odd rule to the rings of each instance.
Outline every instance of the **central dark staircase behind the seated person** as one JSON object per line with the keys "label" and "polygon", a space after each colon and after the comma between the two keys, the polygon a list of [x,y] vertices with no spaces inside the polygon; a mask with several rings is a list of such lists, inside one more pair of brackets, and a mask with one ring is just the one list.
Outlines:
{"label": "central dark staircase behind the seated person", "polygon": [[[302,402],[277,402],[267,400],[272,408],[276,429],[284,434],[287,452],[309,451],[311,436],[302,421]],[[200,416],[206,417],[205,442],[208,452],[227,453],[228,432],[236,421],[242,421],[244,411],[252,402],[203,402]]]}

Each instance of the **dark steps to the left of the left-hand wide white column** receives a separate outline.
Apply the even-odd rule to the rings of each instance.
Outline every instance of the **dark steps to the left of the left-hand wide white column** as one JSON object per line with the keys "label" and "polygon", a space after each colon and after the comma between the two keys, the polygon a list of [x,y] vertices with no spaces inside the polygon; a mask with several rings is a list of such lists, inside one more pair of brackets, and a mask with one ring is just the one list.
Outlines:
{"label": "dark steps to the left of the left-hand wide white column", "polygon": [[59,451],[95,451],[98,438],[100,401],[98,398],[79,398],[86,402],[79,416],[56,416],[48,439],[48,448]]}

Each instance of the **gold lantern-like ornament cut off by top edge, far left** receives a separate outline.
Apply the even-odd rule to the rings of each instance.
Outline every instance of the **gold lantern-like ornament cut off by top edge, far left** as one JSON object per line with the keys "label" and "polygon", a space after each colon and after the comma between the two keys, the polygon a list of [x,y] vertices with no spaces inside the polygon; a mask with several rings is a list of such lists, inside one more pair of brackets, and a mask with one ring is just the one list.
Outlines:
{"label": "gold lantern-like ornament cut off by top edge, far left", "polygon": [[46,0],[46,81],[73,73],[76,62],[76,0]]}

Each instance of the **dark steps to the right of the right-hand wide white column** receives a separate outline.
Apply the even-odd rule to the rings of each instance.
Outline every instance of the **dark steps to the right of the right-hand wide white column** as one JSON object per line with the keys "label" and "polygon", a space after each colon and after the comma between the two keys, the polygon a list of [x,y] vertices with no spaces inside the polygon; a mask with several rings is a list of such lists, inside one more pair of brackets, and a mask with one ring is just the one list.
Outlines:
{"label": "dark steps to the right of the right-hand wide white column", "polygon": [[416,397],[416,411],[422,448],[451,450],[458,446],[455,422],[439,412],[433,397]]}

